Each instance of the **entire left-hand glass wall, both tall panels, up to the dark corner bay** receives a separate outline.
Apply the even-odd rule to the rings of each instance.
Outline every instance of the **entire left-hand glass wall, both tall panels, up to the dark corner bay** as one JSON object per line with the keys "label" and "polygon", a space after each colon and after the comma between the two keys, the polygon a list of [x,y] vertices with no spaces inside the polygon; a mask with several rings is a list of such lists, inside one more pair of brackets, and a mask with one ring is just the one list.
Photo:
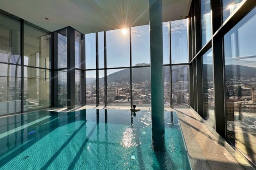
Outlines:
{"label": "entire left-hand glass wall, both tall panels, up to the dark corner bay", "polygon": [[0,115],[51,105],[51,34],[16,18],[0,14]]}

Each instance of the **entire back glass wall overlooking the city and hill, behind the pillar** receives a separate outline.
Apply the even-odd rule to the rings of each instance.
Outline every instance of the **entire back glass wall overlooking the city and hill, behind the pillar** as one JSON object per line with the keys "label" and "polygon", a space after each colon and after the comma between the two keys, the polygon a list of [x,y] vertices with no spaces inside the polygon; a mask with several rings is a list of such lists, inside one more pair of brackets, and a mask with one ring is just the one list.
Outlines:
{"label": "entire back glass wall overlooking the city and hill, behind the pillar", "polygon": [[[187,20],[172,21],[171,29],[170,22],[163,23],[163,64],[164,66],[164,102],[165,107],[172,107],[172,90],[171,90],[171,70],[172,64],[181,64],[177,68],[183,68],[184,71],[179,72],[180,80],[177,82],[180,85],[175,86],[175,105],[178,100],[178,107],[188,107],[188,34]],[[131,34],[130,31],[131,30]],[[112,108],[121,108],[121,106],[130,107],[131,104],[137,106],[151,108],[151,71],[150,71],[150,34],[149,25],[136,26],[124,29],[106,31],[106,47],[104,47],[104,32],[98,33],[98,49],[99,60],[98,65],[87,67],[86,71],[93,72],[93,77],[87,75],[86,83],[86,105],[107,105]],[[170,34],[172,34],[170,36]],[[86,34],[85,37],[93,36],[93,51],[95,35]],[[131,39],[130,39],[131,36]],[[170,49],[170,37],[172,37],[172,50]],[[88,39],[87,39],[88,40]],[[131,42],[130,42],[131,40]],[[89,43],[89,42],[88,42]],[[130,46],[131,43],[131,46]],[[90,45],[86,46],[87,51],[91,51]],[[89,48],[89,49],[88,49]],[[131,48],[131,49],[130,49]],[[131,50],[131,55],[130,55]],[[105,61],[106,51],[106,61]],[[172,51],[172,62],[171,59]],[[93,53],[93,52],[92,52]],[[86,58],[93,60],[92,64],[96,64],[96,55],[86,53]],[[131,63],[130,63],[131,57]],[[105,68],[106,64],[106,68]],[[176,67],[176,66],[175,66]],[[99,71],[99,77],[96,77],[96,71]],[[182,70],[182,69],[181,69]],[[105,71],[106,77],[105,77]],[[130,78],[131,74],[131,78]],[[96,81],[90,82],[88,79],[99,79],[99,103],[96,100]],[[105,79],[107,85],[105,86]],[[132,80],[132,82],[130,82]],[[181,83],[183,82],[183,84]],[[176,83],[176,80],[175,80]],[[178,84],[177,83],[177,84]],[[105,90],[105,88],[107,88]],[[182,89],[181,89],[182,88]],[[132,99],[131,99],[132,89]],[[92,92],[94,91],[94,92]],[[106,92],[106,94],[105,94]],[[179,94],[181,93],[181,94]],[[93,98],[92,98],[93,96]],[[107,98],[105,99],[105,96]],[[181,97],[182,96],[182,97]],[[90,100],[89,100],[90,99]]]}

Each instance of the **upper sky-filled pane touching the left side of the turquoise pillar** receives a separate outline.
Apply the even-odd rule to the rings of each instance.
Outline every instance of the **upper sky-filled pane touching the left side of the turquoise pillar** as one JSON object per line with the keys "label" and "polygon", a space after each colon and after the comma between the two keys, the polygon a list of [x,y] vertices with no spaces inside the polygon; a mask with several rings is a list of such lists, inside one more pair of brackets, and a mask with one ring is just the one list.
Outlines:
{"label": "upper sky-filled pane touching the left side of the turquoise pillar", "polygon": [[132,66],[150,65],[149,25],[131,28]]}

